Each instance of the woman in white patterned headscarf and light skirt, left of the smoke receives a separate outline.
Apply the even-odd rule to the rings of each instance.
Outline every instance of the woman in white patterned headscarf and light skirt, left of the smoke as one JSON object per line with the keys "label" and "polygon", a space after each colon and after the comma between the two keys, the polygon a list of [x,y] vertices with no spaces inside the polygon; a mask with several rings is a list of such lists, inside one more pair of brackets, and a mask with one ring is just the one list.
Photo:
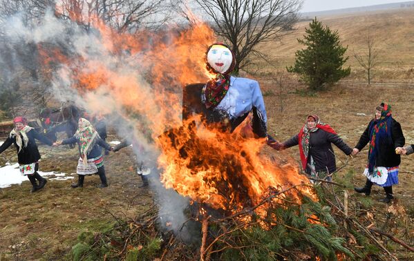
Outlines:
{"label": "woman in white patterned headscarf and light skirt, left of the smoke", "polygon": [[77,162],[78,180],[77,183],[72,184],[72,187],[83,187],[85,175],[92,175],[95,173],[100,176],[102,182],[99,187],[107,187],[108,183],[106,182],[104,158],[102,157],[102,149],[100,146],[112,151],[111,146],[100,138],[100,135],[92,124],[84,118],[79,118],[78,128],[73,137],[64,139],[61,142],[55,142],[53,146],[75,144],[76,142],[79,144],[81,157]]}

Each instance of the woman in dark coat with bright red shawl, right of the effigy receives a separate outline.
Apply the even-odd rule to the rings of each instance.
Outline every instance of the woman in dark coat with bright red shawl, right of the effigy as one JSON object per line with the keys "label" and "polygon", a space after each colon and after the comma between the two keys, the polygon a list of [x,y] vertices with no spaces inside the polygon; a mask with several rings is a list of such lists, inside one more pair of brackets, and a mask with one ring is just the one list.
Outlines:
{"label": "woman in dark coat with bright red shawl, right of the effigy", "polygon": [[309,115],[299,134],[281,144],[275,144],[273,148],[279,151],[299,145],[301,165],[305,173],[319,179],[331,180],[332,173],[337,170],[332,143],[346,155],[352,153],[352,148],[331,126],[323,124],[317,115]]}

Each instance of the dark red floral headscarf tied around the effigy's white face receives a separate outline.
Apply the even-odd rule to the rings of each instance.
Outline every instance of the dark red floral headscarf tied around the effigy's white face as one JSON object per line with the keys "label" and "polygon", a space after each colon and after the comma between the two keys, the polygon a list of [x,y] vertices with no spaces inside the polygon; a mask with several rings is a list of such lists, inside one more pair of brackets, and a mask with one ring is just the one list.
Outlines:
{"label": "dark red floral headscarf tied around the effigy's white face", "polygon": [[236,59],[234,57],[234,53],[230,49],[229,50],[230,52],[232,52],[233,59],[232,64],[227,71],[225,71],[224,73],[220,73],[210,66],[209,62],[207,61],[207,54],[209,53],[211,47],[216,45],[225,46],[229,49],[229,47],[223,43],[213,43],[211,44],[211,46],[209,46],[207,52],[205,53],[205,66],[207,70],[211,73],[216,74],[216,77],[214,79],[209,79],[209,81],[207,81],[207,84],[203,88],[203,102],[206,108],[216,106],[225,97],[225,95],[227,94],[227,90],[229,90],[230,86],[229,73],[232,72],[232,70],[234,70],[234,67],[236,66]]}

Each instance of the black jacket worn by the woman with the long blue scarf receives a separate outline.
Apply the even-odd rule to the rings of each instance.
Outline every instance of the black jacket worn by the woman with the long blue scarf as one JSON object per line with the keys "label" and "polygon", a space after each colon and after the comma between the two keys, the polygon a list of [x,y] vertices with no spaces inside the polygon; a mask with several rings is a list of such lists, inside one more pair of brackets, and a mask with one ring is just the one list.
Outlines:
{"label": "black jacket worn by the woman with the long blue scarf", "polygon": [[[371,120],[371,122],[373,121],[374,119]],[[371,122],[359,138],[357,146],[355,146],[359,151],[370,142],[369,126]],[[379,144],[379,155],[377,155],[375,166],[393,167],[401,163],[401,157],[395,153],[395,148],[404,146],[405,138],[402,134],[401,125],[395,119],[391,123],[391,137],[393,139],[392,144],[386,144],[385,142]]]}

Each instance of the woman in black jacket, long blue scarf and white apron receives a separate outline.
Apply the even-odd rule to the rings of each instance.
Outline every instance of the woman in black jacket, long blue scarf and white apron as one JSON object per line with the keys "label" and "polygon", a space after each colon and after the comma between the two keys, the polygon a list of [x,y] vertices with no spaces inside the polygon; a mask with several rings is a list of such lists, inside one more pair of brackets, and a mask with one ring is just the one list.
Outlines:
{"label": "woman in black jacket, long blue scarf and white apron", "polygon": [[399,147],[404,146],[405,138],[401,125],[391,114],[391,105],[382,103],[377,107],[375,118],[370,121],[352,154],[357,155],[366,144],[368,147],[368,164],[364,171],[366,184],[355,188],[358,193],[370,195],[373,184],[382,186],[386,197],[382,202],[393,200],[393,185],[398,184],[398,170],[401,157]]}

